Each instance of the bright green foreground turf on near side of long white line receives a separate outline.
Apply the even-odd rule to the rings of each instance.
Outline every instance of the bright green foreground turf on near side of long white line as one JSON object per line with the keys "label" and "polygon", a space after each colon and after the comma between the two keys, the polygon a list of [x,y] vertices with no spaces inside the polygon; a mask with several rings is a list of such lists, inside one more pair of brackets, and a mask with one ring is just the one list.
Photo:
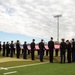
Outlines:
{"label": "bright green foreground turf on near side of long white line", "polygon": [[0,75],[10,71],[17,71],[16,74],[10,75],[75,75],[75,63],[47,63],[22,68],[14,68],[7,71],[0,70]]}

